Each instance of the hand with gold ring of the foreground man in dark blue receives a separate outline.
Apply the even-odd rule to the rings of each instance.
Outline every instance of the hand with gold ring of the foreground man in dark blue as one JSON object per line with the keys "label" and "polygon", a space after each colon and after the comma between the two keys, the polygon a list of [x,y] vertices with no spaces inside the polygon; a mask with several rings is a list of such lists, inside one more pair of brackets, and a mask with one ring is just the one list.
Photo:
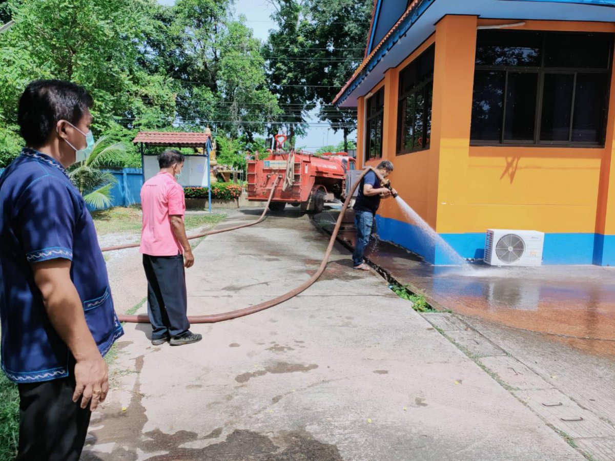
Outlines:
{"label": "hand with gold ring of the foreground man in dark blue", "polygon": [[81,397],[81,408],[86,408],[91,402],[90,411],[95,411],[98,404],[105,401],[109,392],[107,364],[100,353],[77,360],[75,380],[73,402]]}

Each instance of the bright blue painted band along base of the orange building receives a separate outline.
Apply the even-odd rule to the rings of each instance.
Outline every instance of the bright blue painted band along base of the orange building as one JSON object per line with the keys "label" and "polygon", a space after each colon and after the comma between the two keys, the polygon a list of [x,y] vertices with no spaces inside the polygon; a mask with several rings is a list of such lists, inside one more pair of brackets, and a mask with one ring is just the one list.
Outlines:
{"label": "bright blue painted band along base of the orange building", "polygon": [[[376,216],[378,235],[403,246],[436,266],[453,264],[445,248],[434,245],[417,226],[397,219]],[[485,234],[440,234],[464,259],[483,259]],[[596,264],[615,266],[615,235],[550,233],[544,236],[542,264]]]}

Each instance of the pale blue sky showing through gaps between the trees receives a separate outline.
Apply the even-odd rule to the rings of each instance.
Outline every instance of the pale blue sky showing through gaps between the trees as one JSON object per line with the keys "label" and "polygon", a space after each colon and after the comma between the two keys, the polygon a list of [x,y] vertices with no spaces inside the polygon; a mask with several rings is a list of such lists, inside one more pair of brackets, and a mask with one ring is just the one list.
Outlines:
{"label": "pale blue sky showing through gaps between the trees", "polygon": [[[172,5],[174,0],[158,0],[159,3]],[[275,28],[276,24],[271,20],[271,14],[274,12],[273,7],[265,0],[236,0],[235,1],[236,15],[245,15],[246,23],[254,31],[254,36],[262,41],[265,41],[269,36],[269,30]],[[318,118],[312,116],[312,122],[319,122]],[[349,139],[354,140],[356,133],[351,133]],[[297,141],[297,147],[306,148],[308,151],[331,144],[338,144],[343,140],[341,131],[333,133],[333,130],[328,130],[327,127],[309,127],[308,134]]]}

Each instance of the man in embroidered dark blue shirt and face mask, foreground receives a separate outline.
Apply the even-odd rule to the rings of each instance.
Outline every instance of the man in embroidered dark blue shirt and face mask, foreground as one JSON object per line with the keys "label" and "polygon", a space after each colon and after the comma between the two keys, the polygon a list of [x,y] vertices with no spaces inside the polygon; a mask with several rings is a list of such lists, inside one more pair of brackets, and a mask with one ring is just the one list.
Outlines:
{"label": "man in embroidered dark blue shirt and face mask, foreground", "polygon": [[[78,460],[123,334],[85,202],[65,168],[93,149],[82,88],[36,81],[19,102],[26,143],[0,176],[1,366],[20,394],[18,460]],[[90,408],[87,408],[87,407]]]}

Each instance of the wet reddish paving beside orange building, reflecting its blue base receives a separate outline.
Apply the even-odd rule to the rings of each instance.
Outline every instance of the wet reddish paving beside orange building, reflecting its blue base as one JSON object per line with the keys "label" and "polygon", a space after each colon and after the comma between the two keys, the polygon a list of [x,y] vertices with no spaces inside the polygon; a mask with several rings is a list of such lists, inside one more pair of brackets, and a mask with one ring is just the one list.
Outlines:
{"label": "wet reddish paving beside orange building, reflecting its blue base", "polygon": [[[315,219],[331,227],[337,213]],[[341,232],[354,245],[350,211]],[[432,266],[399,246],[371,245],[367,257],[437,309],[555,336],[586,352],[615,357],[615,268],[598,266]]]}

